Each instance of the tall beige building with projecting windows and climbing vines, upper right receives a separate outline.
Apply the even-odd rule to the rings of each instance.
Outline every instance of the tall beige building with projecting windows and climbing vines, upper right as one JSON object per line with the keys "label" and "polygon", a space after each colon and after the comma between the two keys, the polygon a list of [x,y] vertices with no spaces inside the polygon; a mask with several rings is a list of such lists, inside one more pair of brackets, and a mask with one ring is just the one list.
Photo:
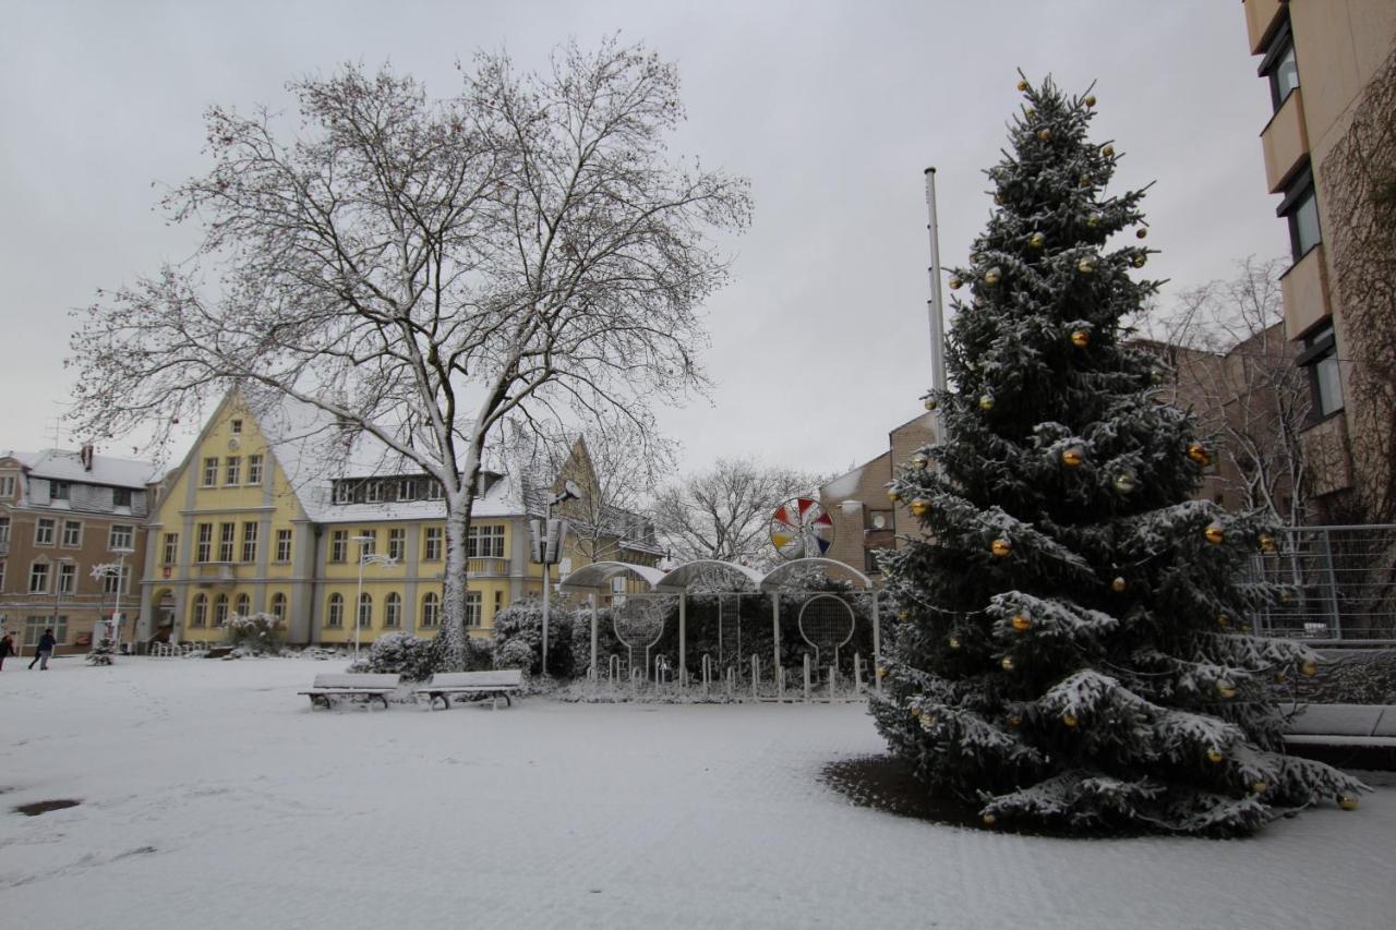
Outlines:
{"label": "tall beige building with projecting windows and climbing vines, upper right", "polygon": [[1312,394],[1314,492],[1325,519],[1396,519],[1396,239],[1378,200],[1396,177],[1396,1],[1244,4],[1275,105],[1261,147],[1290,228],[1284,330]]}

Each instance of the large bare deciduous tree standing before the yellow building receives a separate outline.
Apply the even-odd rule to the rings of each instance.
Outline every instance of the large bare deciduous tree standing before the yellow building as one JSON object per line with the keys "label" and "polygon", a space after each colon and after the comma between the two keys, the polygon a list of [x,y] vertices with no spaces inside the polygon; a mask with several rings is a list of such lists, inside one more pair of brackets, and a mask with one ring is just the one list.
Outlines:
{"label": "large bare deciduous tree standing before the yellow building", "polygon": [[745,225],[747,183],[669,156],[676,68],[614,40],[542,74],[480,54],[445,101],[387,68],[289,87],[292,126],[208,112],[214,168],[165,198],[202,247],[88,310],[75,427],[169,425],[242,384],[374,437],[444,487],[458,666],[487,440],[521,409],[645,411],[701,387],[698,306],[725,278],[709,236]]}

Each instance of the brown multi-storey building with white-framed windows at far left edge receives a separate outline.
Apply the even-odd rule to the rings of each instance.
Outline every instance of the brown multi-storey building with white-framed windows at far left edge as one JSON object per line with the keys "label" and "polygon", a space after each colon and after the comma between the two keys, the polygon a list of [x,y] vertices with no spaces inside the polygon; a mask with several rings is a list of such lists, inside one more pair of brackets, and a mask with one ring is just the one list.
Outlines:
{"label": "brown multi-storey building with white-framed windows at far left edge", "polygon": [[25,652],[46,627],[59,654],[130,640],[154,479],[89,445],[0,455],[0,627]]}

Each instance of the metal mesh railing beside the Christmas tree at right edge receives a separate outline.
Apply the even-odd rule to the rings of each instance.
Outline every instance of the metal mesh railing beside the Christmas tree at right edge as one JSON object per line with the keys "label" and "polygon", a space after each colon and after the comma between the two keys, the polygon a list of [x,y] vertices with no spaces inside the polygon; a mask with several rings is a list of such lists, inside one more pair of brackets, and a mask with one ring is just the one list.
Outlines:
{"label": "metal mesh railing beside the Christmas tree at right edge", "polygon": [[1251,561],[1252,580],[1284,585],[1259,631],[1323,641],[1396,640],[1396,524],[1302,526]]}

